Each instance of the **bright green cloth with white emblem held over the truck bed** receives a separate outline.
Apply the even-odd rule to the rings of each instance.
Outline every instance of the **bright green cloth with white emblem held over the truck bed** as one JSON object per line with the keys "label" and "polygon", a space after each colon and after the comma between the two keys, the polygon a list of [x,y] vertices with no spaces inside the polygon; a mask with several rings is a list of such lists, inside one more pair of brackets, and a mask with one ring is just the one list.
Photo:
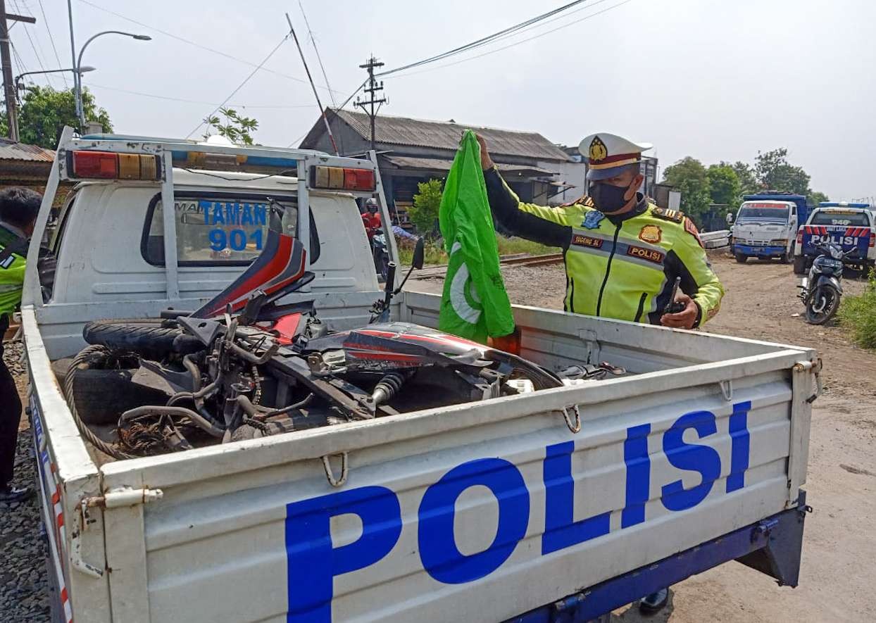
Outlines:
{"label": "bright green cloth with white emblem held over the truck bed", "polygon": [[438,328],[481,343],[512,333],[480,146],[470,130],[447,175],[438,218],[449,255]]}

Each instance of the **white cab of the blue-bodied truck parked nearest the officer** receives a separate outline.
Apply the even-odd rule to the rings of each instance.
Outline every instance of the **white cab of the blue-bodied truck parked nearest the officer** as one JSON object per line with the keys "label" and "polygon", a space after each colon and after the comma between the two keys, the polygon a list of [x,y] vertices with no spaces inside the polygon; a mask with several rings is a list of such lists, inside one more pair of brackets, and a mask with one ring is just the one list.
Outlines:
{"label": "white cab of the blue-bodied truck parked nearest the officer", "polygon": [[794,257],[796,232],[795,202],[743,202],[731,228],[731,252],[740,263],[748,258],[789,262]]}

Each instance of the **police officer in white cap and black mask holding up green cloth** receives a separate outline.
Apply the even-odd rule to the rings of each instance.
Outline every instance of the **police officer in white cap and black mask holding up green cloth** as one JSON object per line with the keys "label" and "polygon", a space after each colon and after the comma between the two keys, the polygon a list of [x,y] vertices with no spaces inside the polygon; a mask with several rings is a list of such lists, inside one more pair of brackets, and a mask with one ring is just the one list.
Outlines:
{"label": "police officer in white cap and black mask holding up green cloth", "polygon": [[[520,202],[498,173],[484,138],[477,140],[498,224],[515,236],[562,248],[565,311],[675,329],[694,329],[717,314],[724,287],[696,226],[639,192],[641,154],[651,145],[606,132],[584,138],[578,150],[588,164],[587,193],[549,208]],[[653,592],[639,601],[639,609],[657,612],[668,598],[668,588]]]}

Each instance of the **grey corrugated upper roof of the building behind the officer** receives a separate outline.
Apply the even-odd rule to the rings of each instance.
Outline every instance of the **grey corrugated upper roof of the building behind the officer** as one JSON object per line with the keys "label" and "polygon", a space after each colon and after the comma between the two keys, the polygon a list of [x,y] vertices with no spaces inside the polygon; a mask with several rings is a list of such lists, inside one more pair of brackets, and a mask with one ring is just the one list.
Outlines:
{"label": "grey corrugated upper roof of the building behind the officer", "polygon": [[[337,115],[350,125],[362,138],[371,139],[371,122],[362,112],[329,109],[329,114]],[[305,138],[315,140],[314,131],[319,133],[321,123]],[[455,121],[424,121],[408,117],[387,117],[378,115],[375,120],[374,138],[384,145],[410,145],[447,149],[453,152],[459,148],[459,139],[464,130],[475,130],[483,135],[490,146],[490,152],[505,156],[522,156],[541,160],[566,162],[569,156],[538,132],[519,132],[484,128],[477,125],[457,124]]]}

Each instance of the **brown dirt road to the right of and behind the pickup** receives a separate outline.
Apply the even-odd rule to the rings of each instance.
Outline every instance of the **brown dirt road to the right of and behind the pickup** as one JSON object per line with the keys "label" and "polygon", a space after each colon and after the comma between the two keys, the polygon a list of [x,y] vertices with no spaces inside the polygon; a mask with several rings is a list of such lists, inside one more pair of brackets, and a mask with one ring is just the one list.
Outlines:
{"label": "brown dirt road to the right of and behind the pickup", "polygon": [[[809,477],[815,513],[806,521],[800,585],[778,588],[769,577],[738,563],[691,577],[674,587],[673,602],[650,618],[633,608],[624,621],[671,623],[799,623],[873,621],[876,578],[876,354],[854,346],[837,327],[813,327],[795,316],[797,279],[788,265],[712,258],[727,294],[707,329],[714,333],[816,348],[824,362],[825,393],[812,412]],[[562,308],[561,265],[503,270],[513,302]],[[442,280],[415,289],[441,292]],[[846,279],[846,294],[863,290]]]}

